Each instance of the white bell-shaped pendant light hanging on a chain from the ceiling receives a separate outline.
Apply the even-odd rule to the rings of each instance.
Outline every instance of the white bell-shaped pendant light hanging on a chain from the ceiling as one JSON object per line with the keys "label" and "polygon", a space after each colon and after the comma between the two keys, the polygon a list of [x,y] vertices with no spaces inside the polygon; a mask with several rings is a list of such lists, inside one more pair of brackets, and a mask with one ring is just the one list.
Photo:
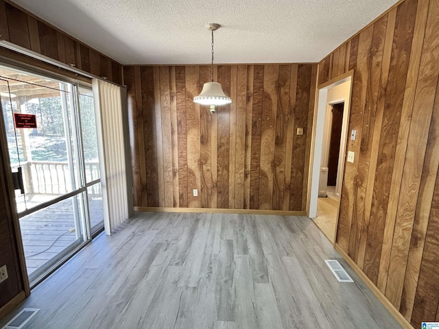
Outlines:
{"label": "white bell-shaped pendant light hanging on a chain from the ceiling", "polygon": [[215,112],[215,106],[232,103],[232,99],[227,97],[222,91],[222,86],[218,82],[213,82],[213,31],[219,28],[219,24],[211,23],[207,29],[212,32],[212,62],[211,62],[211,82],[206,82],[201,90],[200,95],[193,97],[194,103],[201,105],[210,105],[211,114]]}

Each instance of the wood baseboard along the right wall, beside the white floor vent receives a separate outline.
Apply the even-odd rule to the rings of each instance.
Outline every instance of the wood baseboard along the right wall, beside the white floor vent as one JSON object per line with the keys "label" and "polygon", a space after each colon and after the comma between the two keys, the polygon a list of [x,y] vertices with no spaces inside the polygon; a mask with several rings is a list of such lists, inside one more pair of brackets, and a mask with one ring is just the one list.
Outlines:
{"label": "wood baseboard along the right wall, beside the white floor vent", "polygon": [[377,286],[375,286],[375,284],[373,284],[373,282],[370,281],[368,276],[366,276],[366,274],[363,271],[361,271],[361,269],[358,267],[357,264],[354,263],[354,261],[351,259],[351,257],[349,257],[348,254],[346,254],[346,252],[344,252],[342,247],[340,247],[340,245],[338,245],[337,243],[335,243],[334,247],[335,247],[335,250],[337,250],[337,252],[340,255],[342,255],[344,260],[346,260],[346,263],[348,263],[348,265],[350,267],[352,267],[352,269],[355,271],[355,273],[357,273],[357,275],[361,278],[361,280],[363,280],[364,283],[366,283],[366,285],[369,287],[369,289],[372,291],[372,293],[374,293],[374,295],[385,306],[385,308],[387,308],[387,310],[396,319],[396,321],[398,321],[399,324],[401,324],[401,326],[404,329],[414,329],[412,324],[410,324],[410,322],[407,321],[407,319],[405,319],[405,317],[401,313],[399,313],[399,310],[397,310],[395,308],[395,306],[393,306],[393,304],[385,297],[385,295],[383,293],[381,293],[381,291],[379,291]]}

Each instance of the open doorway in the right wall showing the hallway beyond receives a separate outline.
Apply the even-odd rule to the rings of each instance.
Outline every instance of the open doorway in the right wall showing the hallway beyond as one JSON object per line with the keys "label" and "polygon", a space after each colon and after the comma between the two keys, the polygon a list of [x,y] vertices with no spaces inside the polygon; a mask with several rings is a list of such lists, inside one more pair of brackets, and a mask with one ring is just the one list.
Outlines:
{"label": "open doorway in the right wall showing the hallway beyond", "polygon": [[335,243],[342,191],[352,73],[318,89],[309,217]]}

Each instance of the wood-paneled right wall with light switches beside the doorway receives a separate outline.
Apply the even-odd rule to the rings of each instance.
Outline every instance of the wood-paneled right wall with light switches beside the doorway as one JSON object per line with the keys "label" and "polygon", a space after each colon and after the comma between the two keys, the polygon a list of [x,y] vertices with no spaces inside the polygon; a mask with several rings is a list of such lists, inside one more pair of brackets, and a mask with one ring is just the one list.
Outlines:
{"label": "wood-paneled right wall with light switches beside the doorway", "polygon": [[439,1],[405,0],[320,62],[354,69],[337,244],[415,328],[439,321]]}

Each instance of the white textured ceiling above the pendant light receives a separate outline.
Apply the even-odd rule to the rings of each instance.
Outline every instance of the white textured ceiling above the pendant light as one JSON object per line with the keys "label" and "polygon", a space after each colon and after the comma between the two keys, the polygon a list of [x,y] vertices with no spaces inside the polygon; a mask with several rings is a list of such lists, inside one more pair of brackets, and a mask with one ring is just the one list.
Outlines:
{"label": "white textured ceiling above the pendant light", "polygon": [[318,62],[397,0],[13,0],[121,64]]}

